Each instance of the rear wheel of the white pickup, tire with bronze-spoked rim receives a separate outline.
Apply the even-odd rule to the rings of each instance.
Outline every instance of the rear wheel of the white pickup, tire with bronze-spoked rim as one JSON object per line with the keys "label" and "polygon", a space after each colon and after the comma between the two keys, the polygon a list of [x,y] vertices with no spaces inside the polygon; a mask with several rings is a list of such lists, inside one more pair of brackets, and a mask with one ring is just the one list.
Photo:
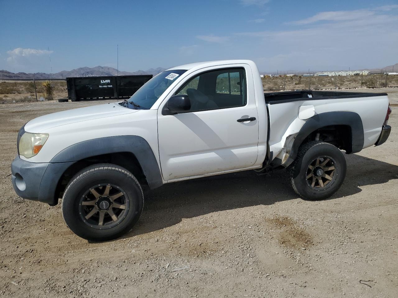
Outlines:
{"label": "rear wheel of the white pickup, tire with bronze-spoked rim", "polygon": [[346,170],[345,158],[337,147],[310,142],[300,147],[297,158],[287,167],[287,180],[304,199],[326,199],[340,188]]}

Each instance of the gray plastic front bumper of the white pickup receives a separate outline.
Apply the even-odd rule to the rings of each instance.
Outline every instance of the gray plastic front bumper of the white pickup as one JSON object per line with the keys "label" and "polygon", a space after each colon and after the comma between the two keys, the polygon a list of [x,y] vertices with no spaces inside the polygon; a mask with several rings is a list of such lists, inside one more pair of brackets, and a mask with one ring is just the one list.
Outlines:
{"label": "gray plastic front bumper of the white pickup", "polygon": [[58,203],[58,182],[73,163],[30,163],[17,155],[11,163],[14,190],[24,199],[55,205]]}

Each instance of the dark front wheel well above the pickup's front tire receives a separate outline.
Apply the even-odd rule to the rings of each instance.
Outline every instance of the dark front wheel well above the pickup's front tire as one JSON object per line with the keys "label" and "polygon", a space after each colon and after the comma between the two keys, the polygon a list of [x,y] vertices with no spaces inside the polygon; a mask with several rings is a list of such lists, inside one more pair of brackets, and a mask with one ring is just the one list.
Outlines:
{"label": "dark front wheel well above the pickup's front tire", "polygon": [[148,185],[137,157],[131,152],[117,152],[88,157],[72,164],[62,174],[55,190],[55,197],[62,197],[66,185],[76,173],[88,166],[98,163],[111,163],[121,166],[131,172],[140,184]]}

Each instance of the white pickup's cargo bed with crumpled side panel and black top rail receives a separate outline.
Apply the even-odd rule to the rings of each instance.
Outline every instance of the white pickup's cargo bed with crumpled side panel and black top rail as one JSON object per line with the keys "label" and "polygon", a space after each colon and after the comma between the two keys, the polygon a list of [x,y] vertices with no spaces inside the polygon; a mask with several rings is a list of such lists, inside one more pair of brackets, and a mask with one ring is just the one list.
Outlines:
{"label": "white pickup's cargo bed with crumpled side panel and black top rail", "polygon": [[300,106],[313,106],[315,115],[339,111],[358,114],[363,125],[363,148],[376,143],[388,108],[386,93],[300,90],[264,93],[264,99],[269,119],[269,150],[281,160],[295,134],[308,121],[298,116]]}

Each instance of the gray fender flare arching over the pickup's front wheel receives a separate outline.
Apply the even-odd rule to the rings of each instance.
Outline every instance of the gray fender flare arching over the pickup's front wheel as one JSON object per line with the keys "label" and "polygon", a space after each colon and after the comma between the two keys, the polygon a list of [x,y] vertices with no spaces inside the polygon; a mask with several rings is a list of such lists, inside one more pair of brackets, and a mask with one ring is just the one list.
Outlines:
{"label": "gray fender flare arching over the pickup's front wheel", "polygon": [[60,151],[50,163],[77,162],[96,155],[129,152],[137,158],[151,189],[162,186],[162,176],[148,142],[137,135],[101,137],[82,141]]}

